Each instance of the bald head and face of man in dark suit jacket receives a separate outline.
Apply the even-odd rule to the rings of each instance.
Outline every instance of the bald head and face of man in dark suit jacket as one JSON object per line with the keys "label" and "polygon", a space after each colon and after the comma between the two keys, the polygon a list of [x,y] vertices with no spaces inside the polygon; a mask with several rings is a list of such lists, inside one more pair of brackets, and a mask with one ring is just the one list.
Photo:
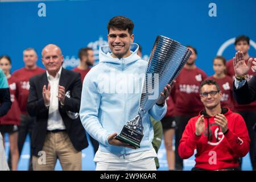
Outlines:
{"label": "bald head and face of man in dark suit jacket", "polygon": [[42,51],[42,62],[50,75],[56,75],[63,63],[63,55],[59,47],[49,44]]}

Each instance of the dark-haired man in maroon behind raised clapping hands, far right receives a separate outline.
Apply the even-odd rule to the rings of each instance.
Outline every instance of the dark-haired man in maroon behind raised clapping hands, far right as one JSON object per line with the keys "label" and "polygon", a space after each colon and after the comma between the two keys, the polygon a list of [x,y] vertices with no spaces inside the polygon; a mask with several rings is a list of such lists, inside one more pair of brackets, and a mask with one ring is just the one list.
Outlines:
{"label": "dark-haired man in maroon behind raised clapping hands, far right", "polygon": [[[245,64],[248,63],[248,60],[253,57],[249,56],[249,49],[250,49],[250,38],[245,35],[237,36],[235,40],[235,49],[236,51],[241,51],[243,52],[243,59],[245,61]],[[236,72],[234,71],[234,65],[233,65],[233,59],[230,59],[226,63],[226,68],[227,68],[227,74],[231,77],[233,77],[233,80],[236,78]],[[247,74],[247,81],[249,81],[253,76],[254,72],[249,69],[249,71],[246,73]],[[246,105],[238,105],[237,102],[234,102],[234,111],[237,111],[239,114],[242,115],[243,119],[245,119],[245,123],[247,126],[247,129],[249,131],[249,136],[251,139],[250,143],[250,160],[251,160],[251,166],[253,167],[253,170],[256,170],[256,162],[254,161],[254,148],[255,143],[254,138],[255,138],[255,132],[253,131],[253,126],[256,121],[256,101],[251,102],[250,104]]]}

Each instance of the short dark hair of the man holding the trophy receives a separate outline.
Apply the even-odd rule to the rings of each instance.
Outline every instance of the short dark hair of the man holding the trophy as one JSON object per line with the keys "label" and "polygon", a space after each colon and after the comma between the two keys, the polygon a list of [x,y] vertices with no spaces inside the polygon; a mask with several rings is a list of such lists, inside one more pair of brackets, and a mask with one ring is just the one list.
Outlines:
{"label": "short dark hair of the man holding the trophy", "polygon": [[115,16],[114,18],[109,20],[108,23],[108,32],[110,28],[117,28],[118,30],[126,30],[130,35],[133,34],[134,23],[125,16]]}

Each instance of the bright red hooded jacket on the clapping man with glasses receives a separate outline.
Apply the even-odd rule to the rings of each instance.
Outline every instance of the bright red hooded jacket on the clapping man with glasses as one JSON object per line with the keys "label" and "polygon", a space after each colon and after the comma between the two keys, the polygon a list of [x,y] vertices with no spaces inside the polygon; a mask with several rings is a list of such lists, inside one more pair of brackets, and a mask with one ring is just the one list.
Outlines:
{"label": "bright red hooded jacket on the clapping man with glasses", "polygon": [[[205,117],[205,131],[197,137],[196,121],[201,114]],[[225,135],[214,122],[214,117],[209,117],[205,111],[188,121],[178,148],[182,159],[191,157],[196,149],[197,168],[217,170],[239,166],[238,158],[245,156],[250,148],[247,127],[240,114],[225,108],[222,108],[222,114],[228,119],[228,132]]]}

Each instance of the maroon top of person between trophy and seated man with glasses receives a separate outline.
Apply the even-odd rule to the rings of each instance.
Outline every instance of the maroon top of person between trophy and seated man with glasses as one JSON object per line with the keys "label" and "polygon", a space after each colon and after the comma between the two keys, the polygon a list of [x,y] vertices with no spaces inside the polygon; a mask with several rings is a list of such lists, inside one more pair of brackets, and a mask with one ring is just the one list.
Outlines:
{"label": "maroon top of person between trophy and seated man with glasses", "polygon": [[204,108],[200,100],[200,84],[206,77],[206,73],[199,68],[181,69],[171,91],[175,116],[197,115]]}

